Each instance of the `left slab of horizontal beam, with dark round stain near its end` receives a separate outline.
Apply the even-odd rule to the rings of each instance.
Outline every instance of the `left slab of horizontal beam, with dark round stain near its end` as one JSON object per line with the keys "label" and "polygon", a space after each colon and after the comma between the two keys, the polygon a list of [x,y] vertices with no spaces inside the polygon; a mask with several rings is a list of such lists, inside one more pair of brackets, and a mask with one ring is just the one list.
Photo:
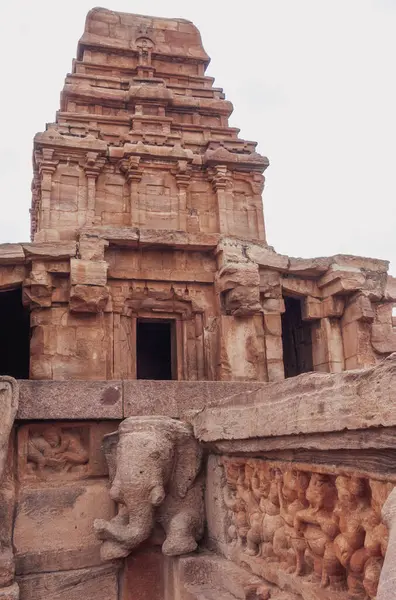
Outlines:
{"label": "left slab of horizontal beam, with dark round stain near its end", "polygon": [[18,419],[122,419],[120,381],[21,381]]}

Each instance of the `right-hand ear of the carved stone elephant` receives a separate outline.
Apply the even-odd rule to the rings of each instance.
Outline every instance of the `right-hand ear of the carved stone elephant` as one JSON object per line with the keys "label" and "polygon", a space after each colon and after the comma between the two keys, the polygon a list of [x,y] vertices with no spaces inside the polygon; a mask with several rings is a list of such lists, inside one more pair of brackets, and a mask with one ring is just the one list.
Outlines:
{"label": "right-hand ear of the carved stone elephant", "polygon": [[180,424],[176,434],[175,462],[170,488],[173,495],[184,498],[194,485],[202,464],[202,449],[192,430]]}

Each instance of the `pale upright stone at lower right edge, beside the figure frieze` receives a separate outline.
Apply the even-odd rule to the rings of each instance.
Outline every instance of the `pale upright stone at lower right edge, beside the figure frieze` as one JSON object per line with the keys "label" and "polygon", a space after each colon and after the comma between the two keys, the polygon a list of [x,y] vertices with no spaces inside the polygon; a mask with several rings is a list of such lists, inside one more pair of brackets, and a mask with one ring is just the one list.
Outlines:
{"label": "pale upright stone at lower right edge, beside the figure frieze", "polygon": [[396,589],[396,488],[388,496],[382,518],[389,528],[389,542],[378,584],[377,600],[394,600]]}

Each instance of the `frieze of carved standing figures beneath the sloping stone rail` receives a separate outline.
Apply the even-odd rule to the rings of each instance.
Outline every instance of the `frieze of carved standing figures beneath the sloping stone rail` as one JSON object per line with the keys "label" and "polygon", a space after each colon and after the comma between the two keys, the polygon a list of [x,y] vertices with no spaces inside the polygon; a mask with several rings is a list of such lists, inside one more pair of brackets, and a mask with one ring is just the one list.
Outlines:
{"label": "frieze of carved standing figures beneath the sloping stone rail", "polygon": [[393,484],[309,472],[260,459],[223,458],[228,543],[351,598],[376,597],[388,529],[381,510]]}

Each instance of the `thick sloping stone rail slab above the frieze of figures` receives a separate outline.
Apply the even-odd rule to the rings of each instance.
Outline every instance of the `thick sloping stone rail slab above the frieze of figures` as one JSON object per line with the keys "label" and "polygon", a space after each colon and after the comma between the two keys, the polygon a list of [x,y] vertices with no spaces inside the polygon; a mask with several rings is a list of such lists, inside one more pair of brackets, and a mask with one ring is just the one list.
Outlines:
{"label": "thick sloping stone rail slab above the frieze of figures", "polygon": [[222,407],[191,415],[203,441],[364,429],[396,424],[396,355],[378,367],[337,374],[307,374],[268,383]]}

